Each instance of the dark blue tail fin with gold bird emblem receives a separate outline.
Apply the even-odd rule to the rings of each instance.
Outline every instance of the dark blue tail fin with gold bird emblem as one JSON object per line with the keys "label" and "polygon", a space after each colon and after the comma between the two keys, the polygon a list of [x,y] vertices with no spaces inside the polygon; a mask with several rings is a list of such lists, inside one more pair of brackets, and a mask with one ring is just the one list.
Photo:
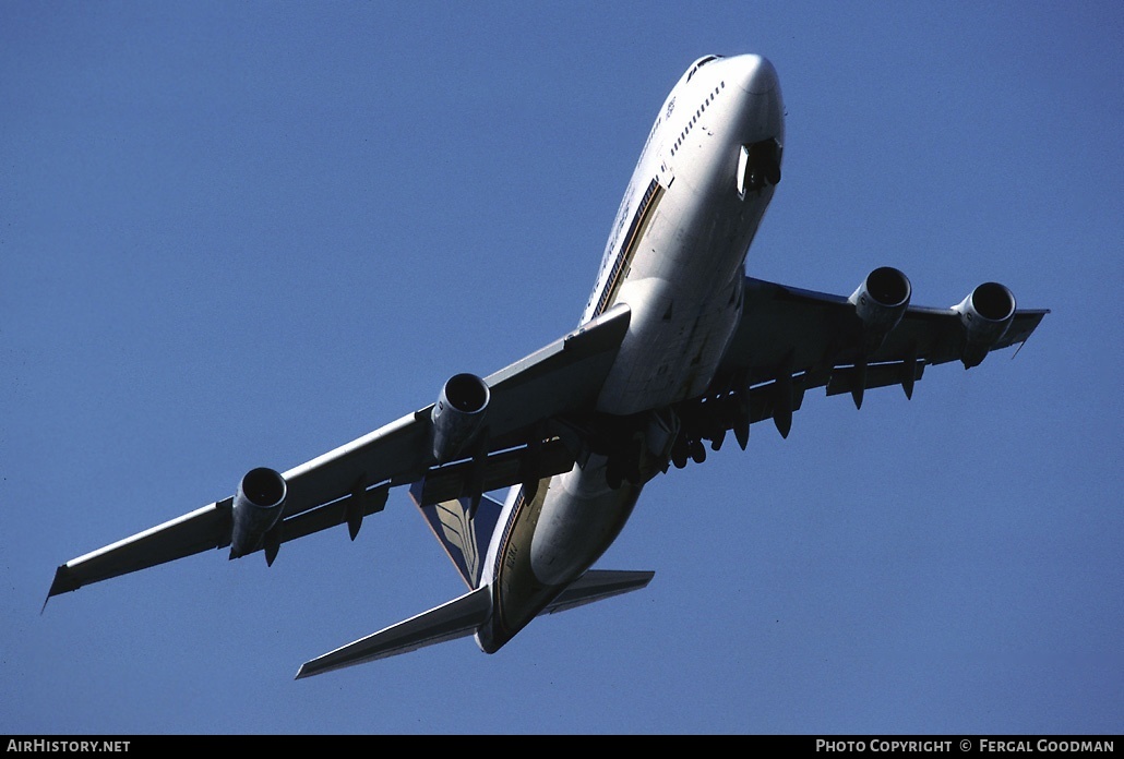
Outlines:
{"label": "dark blue tail fin with gold bird emblem", "polygon": [[461,577],[470,588],[480,587],[488,541],[491,540],[496,522],[504,504],[488,495],[480,496],[473,510],[471,497],[461,497],[422,505],[422,488],[425,481],[410,486],[410,499],[422,511],[429,529],[452,559]]}

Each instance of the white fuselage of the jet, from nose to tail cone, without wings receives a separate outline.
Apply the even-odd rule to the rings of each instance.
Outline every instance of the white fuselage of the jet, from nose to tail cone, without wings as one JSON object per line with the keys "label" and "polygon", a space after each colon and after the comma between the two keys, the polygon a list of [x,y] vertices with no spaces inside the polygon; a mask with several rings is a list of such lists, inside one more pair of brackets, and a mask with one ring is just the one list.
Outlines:
{"label": "white fuselage of the jet, from nose to tail cone, without wings", "polygon": [[[628,333],[597,411],[628,417],[701,394],[741,317],[745,254],[773,186],[740,192],[744,146],[783,145],[772,65],[707,57],[660,109],[613,225],[584,323],[616,303]],[[779,156],[778,156],[779,158]],[[488,551],[492,616],[477,633],[495,651],[609,547],[641,485],[610,487],[590,454],[533,493],[511,490]]]}

